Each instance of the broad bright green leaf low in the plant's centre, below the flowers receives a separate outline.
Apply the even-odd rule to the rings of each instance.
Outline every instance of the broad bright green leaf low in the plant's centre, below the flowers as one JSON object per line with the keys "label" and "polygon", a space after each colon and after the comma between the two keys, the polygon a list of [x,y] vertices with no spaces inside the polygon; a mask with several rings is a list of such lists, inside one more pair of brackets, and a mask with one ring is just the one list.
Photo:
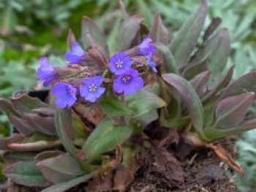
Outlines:
{"label": "broad bright green leaf low in the plant's centre, below the flowers", "polygon": [[110,120],[103,120],[90,134],[83,145],[88,161],[94,161],[102,153],[114,150],[116,145],[121,145],[132,134],[128,126],[116,126]]}

